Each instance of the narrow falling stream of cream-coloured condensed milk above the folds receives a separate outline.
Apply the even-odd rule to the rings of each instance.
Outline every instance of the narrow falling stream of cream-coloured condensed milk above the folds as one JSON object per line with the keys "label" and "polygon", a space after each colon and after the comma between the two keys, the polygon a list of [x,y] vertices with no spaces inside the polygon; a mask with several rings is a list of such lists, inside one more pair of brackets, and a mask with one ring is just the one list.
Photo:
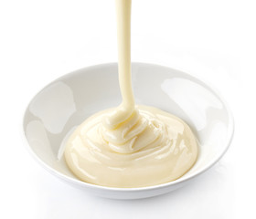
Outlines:
{"label": "narrow falling stream of cream-coloured condensed milk above the folds", "polygon": [[123,102],[104,120],[104,125],[110,129],[127,120],[135,107],[131,77],[131,2],[116,0],[118,72]]}

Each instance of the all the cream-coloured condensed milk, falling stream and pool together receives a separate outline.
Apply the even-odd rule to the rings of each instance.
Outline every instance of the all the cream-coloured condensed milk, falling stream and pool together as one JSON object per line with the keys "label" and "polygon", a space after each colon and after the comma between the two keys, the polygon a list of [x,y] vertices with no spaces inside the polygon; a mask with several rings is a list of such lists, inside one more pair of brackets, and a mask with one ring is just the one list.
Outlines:
{"label": "all the cream-coloured condensed milk, falling stream and pool together", "polygon": [[69,137],[65,159],[81,181],[135,188],[168,183],[197,160],[197,139],[165,111],[136,106],[131,81],[131,0],[116,0],[118,71],[123,102],[85,120]]}

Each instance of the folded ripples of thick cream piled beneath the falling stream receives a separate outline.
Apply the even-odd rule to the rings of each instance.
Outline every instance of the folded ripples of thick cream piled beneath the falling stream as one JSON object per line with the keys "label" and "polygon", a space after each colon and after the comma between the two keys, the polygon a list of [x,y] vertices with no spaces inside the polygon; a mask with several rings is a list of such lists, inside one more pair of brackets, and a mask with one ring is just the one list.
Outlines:
{"label": "folded ripples of thick cream piled beneath the falling stream", "polygon": [[139,113],[134,110],[132,116],[116,129],[109,130],[101,125],[100,132],[106,145],[120,153],[152,148],[166,139],[165,123],[148,111]]}

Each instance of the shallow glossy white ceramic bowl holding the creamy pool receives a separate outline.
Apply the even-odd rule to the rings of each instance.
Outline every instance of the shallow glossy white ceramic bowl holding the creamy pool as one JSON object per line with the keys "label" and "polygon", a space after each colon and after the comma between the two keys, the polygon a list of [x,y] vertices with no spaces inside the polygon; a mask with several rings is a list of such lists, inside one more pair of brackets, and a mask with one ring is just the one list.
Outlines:
{"label": "shallow glossy white ceramic bowl holding the creamy pool", "polygon": [[117,64],[69,73],[42,89],[29,103],[23,129],[28,149],[48,172],[87,193],[138,199],[168,193],[195,180],[229,148],[234,123],[222,98],[201,80],[172,68],[133,63],[137,104],[157,107],[185,120],[199,141],[194,167],[174,182],[144,188],[110,188],[81,182],[61,155],[70,132],[93,113],[118,106],[121,95]]}

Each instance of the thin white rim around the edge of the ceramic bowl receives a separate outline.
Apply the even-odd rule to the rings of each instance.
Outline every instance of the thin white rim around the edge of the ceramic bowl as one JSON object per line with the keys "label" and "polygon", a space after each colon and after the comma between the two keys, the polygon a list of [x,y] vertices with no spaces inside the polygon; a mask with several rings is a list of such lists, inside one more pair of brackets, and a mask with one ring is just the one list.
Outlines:
{"label": "thin white rim around the edge of the ceramic bowl", "polygon": [[[192,179],[194,179],[195,177],[197,177],[198,175],[202,174],[203,172],[206,172],[209,168],[211,168],[214,164],[216,164],[217,162],[219,162],[219,160],[223,157],[223,155],[226,153],[226,151],[228,151],[230,143],[233,139],[234,136],[234,130],[235,130],[235,123],[234,123],[234,117],[233,114],[231,112],[231,110],[229,109],[229,105],[227,103],[227,101],[225,99],[223,99],[222,95],[220,95],[219,90],[214,88],[214,86],[212,86],[209,82],[205,82],[204,79],[201,79],[200,77],[196,76],[194,77],[193,75],[184,72],[183,70],[179,70],[176,68],[169,68],[163,65],[158,65],[158,64],[152,64],[152,63],[144,63],[144,62],[132,62],[132,66],[133,65],[144,65],[144,66],[152,66],[154,68],[168,68],[172,71],[176,71],[177,73],[182,73],[183,75],[187,75],[190,78],[194,78],[197,80],[197,82],[200,82],[201,84],[205,85],[205,87],[207,89],[209,89],[212,93],[214,93],[222,102],[223,106],[225,107],[225,109],[228,112],[228,117],[229,117],[229,129],[228,129],[228,138],[227,138],[227,142],[226,142],[226,147],[219,152],[219,156],[217,156],[212,162],[209,162],[208,165],[206,165],[205,167],[203,167],[201,170],[194,172],[193,174],[191,174],[190,176],[181,176],[181,178],[176,179],[175,181],[172,182],[168,182],[168,183],[161,183],[161,184],[156,184],[156,185],[151,185],[151,186],[144,186],[144,187],[134,187],[134,188],[120,188],[120,187],[108,187],[108,186],[102,186],[102,185],[97,185],[97,184],[92,184],[92,183],[85,183],[83,181],[80,181],[79,179],[75,179],[75,178],[71,178],[68,175],[65,175],[64,173],[61,173],[57,170],[55,170],[54,168],[50,167],[47,163],[43,162],[36,154],[36,152],[34,152],[28,141],[27,141],[27,137],[26,137],[26,131],[25,131],[25,127],[24,127],[24,120],[25,120],[25,115],[26,112],[28,110],[28,107],[30,105],[30,103],[33,101],[33,99],[35,99],[37,97],[37,95],[43,91],[44,89],[46,89],[50,84],[58,81],[61,78],[65,78],[67,76],[70,76],[72,74],[78,73],[82,70],[90,70],[90,68],[109,68],[111,66],[116,66],[118,65],[116,62],[111,62],[111,63],[102,63],[102,64],[98,64],[98,65],[92,65],[92,66],[88,66],[88,67],[84,67],[84,68],[79,68],[76,70],[73,70],[67,74],[62,75],[59,78],[56,78],[54,80],[52,80],[51,82],[48,83],[48,85],[46,85],[45,87],[43,87],[42,89],[40,89],[39,91],[37,91],[37,93],[32,97],[32,99],[29,100],[28,104],[26,105],[27,107],[25,108],[25,110],[23,111],[23,117],[22,117],[22,124],[21,124],[21,136],[22,136],[22,140],[25,142],[25,147],[28,151],[28,153],[31,154],[31,156],[34,158],[34,160],[37,161],[37,163],[39,163],[45,170],[47,170],[48,172],[52,173],[53,175],[59,177],[59,179],[63,180],[64,182],[68,182],[68,183],[75,183],[81,187],[88,187],[91,189],[97,189],[97,190],[104,190],[104,191],[112,191],[112,192],[138,192],[138,191],[151,191],[151,190],[155,190],[155,189],[164,189],[166,187],[171,187],[174,186],[178,183],[185,183],[187,181],[190,181]],[[185,173],[186,174],[186,173]]]}

